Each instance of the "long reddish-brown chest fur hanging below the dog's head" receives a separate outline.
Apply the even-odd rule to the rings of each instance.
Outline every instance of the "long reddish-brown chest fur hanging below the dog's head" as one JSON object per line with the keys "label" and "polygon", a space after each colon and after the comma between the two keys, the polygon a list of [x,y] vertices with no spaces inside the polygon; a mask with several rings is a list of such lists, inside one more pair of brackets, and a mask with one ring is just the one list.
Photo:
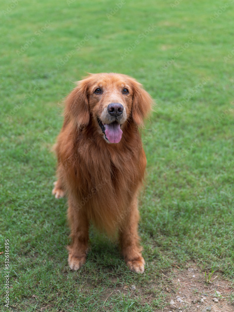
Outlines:
{"label": "long reddish-brown chest fur hanging below the dog's head", "polygon": [[[123,223],[144,178],[146,158],[139,133],[131,132],[121,144],[108,144],[80,134],[74,143],[66,184],[99,228],[112,232]],[[74,183],[76,181],[76,183]]]}

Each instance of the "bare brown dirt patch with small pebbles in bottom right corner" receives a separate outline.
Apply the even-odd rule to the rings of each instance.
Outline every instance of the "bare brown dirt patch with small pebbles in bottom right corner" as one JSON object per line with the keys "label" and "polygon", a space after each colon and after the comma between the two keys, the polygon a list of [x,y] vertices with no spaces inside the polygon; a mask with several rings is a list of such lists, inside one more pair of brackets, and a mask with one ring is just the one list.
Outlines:
{"label": "bare brown dirt patch with small pebbles in bottom right corner", "polygon": [[207,283],[205,272],[191,265],[185,271],[174,269],[172,273],[164,274],[164,277],[168,281],[164,289],[168,293],[168,305],[162,312],[234,312],[233,285],[220,274],[214,273]]}

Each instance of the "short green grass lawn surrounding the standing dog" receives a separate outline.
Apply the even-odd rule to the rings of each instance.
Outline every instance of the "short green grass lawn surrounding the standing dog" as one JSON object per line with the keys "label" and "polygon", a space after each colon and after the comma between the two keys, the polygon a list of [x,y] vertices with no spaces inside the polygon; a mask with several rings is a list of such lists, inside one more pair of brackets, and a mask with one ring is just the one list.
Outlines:
{"label": "short green grass lawn surrounding the standing dog", "polygon": [[[0,252],[9,239],[10,305],[17,311],[46,305],[49,311],[162,310],[162,272],[191,260],[234,277],[234,57],[224,60],[233,50],[234,4],[212,22],[225,1],[184,0],[176,7],[169,0],[126,1],[108,19],[115,3],[0,5]],[[150,24],[154,29],[141,40]],[[189,37],[194,42],[179,50]],[[158,104],[143,134],[144,275],[129,272],[117,243],[94,229],[85,266],[71,272],[67,264],[66,200],[51,196],[56,159],[50,150],[62,125],[57,104],[85,72],[133,76]],[[3,255],[0,260],[3,277]],[[5,311],[3,282],[1,293]]]}

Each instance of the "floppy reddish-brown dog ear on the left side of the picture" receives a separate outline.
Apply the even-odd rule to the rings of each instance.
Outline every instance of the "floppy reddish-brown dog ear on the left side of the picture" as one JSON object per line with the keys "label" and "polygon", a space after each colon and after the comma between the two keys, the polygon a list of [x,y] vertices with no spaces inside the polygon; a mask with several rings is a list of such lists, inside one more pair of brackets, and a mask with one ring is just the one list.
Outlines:
{"label": "floppy reddish-brown dog ear on the left side of the picture", "polygon": [[65,99],[64,124],[73,120],[78,127],[86,126],[90,120],[87,79],[77,82],[77,87]]}

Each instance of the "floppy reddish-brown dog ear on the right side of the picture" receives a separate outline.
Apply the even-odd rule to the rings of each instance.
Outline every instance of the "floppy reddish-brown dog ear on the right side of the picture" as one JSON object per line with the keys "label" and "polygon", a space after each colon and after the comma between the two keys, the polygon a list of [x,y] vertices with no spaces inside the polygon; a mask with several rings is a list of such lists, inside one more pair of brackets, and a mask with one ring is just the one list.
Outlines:
{"label": "floppy reddish-brown dog ear on the right side of the picture", "polygon": [[132,103],[132,118],[137,126],[144,125],[144,119],[149,115],[152,110],[153,99],[146,92],[142,85],[133,80],[133,103]]}

